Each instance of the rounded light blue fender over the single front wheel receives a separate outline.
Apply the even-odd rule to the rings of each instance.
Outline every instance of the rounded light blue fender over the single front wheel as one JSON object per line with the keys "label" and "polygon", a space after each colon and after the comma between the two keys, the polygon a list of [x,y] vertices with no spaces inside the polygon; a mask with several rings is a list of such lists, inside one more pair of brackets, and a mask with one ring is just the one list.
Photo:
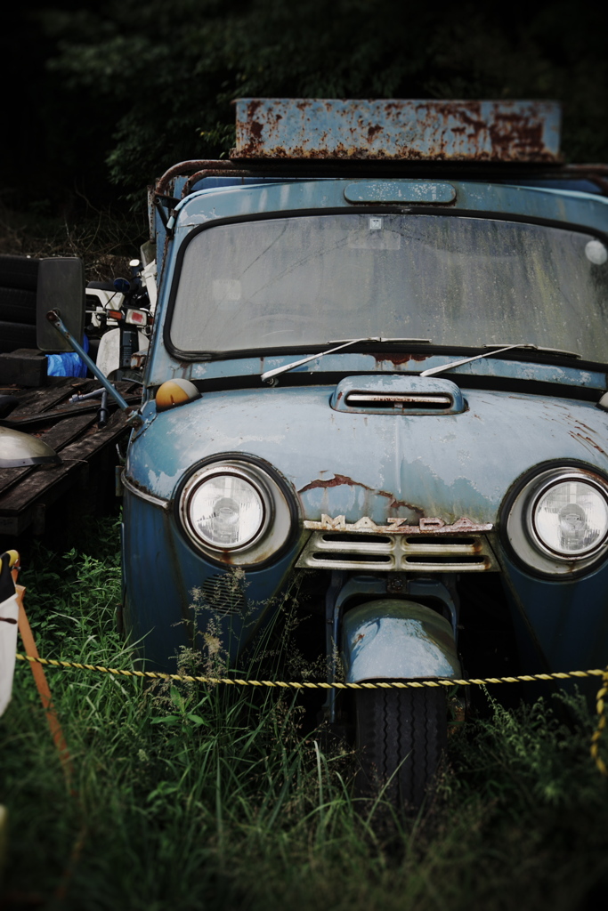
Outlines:
{"label": "rounded light blue fender over the single front wheel", "polygon": [[348,610],[342,660],[347,683],[461,674],[448,620],[416,601],[379,599]]}

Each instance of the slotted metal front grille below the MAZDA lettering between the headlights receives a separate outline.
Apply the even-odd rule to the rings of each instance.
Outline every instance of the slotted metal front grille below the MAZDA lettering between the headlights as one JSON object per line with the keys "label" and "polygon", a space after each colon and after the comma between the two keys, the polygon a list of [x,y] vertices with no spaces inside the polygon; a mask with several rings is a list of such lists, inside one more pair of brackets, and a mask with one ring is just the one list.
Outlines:
{"label": "slotted metal front grille below the MAZDA lettering between the headlights", "polygon": [[498,570],[485,535],[370,535],[314,531],[296,566],[324,569]]}

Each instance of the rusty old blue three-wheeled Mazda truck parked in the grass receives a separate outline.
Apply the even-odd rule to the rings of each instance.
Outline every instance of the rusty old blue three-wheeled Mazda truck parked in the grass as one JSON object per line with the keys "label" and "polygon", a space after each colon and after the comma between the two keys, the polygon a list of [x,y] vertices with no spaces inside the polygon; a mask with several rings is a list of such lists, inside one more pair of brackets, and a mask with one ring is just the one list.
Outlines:
{"label": "rusty old blue three-wheeled Mazda truck parked in the grass", "polygon": [[[294,574],[328,681],[605,664],[608,169],[562,163],[551,102],[236,117],[230,159],[149,196],[122,545],[147,667],[212,621],[246,670]],[[444,690],[329,691],[325,716],[361,793],[420,804]]]}

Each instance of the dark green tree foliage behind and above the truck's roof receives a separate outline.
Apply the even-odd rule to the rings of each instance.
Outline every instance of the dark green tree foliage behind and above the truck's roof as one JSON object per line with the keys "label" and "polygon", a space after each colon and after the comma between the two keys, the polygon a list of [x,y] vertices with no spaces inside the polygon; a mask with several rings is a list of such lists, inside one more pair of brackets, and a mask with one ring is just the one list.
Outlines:
{"label": "dark green tree foliage behind and above the truck's roof", "polygon": [[106,0],[43,21],[67,105],[102,112],[133,200],[176,161],[228,152],[234,97],[555,97],[566,158],[608,157],[602,21],[572,0]]}

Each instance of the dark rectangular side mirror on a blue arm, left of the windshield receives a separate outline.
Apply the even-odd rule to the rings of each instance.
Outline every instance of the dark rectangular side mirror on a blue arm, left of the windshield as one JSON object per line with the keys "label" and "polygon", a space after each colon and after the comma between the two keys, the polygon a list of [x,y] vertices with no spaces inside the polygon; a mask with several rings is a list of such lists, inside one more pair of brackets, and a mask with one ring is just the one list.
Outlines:
{"label": "dark rectangular side mirror on a blue arm, left of the windshield", "polygon": [[36,292],[36,345],[40,351],[73,351],[48,322],[46,313],[57,310],[68,332],[82,344],[85,333],[85,270],[77,257],[41,260]]}

